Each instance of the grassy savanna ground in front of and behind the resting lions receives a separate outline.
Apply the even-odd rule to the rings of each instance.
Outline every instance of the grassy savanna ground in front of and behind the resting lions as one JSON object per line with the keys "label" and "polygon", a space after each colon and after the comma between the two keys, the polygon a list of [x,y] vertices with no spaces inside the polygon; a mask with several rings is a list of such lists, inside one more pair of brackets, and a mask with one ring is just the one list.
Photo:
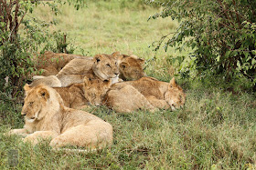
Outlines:
{"label": "grassy savanna ground in front of and behind the resting lions", "polygon": [[[56,16],[41,6],[34,15],[58,22],[50,29],[66,32],[69,42],[77,46],[75,54],[93,56],[120,51],[138,55],[148,60],[147,75],[169,81],[179,68],[170,65],[168,58],[188,52],[170,48],[167,53],[160,49],[155,55],[148,46],[175,31],[178,23],[171,19],[147,21],[159,9],[131,5],[89,1],[80,11],[65,5]],[[155,60],[150,60],[154,56]],[[23,144],[18,136],[5,136],[8,129],[24,123],[20,116],[22,106],[2,101],[0,168],[11,167],[11,149],[18,151],[17,169],[256,168],[255,95],[229,92],[218,83],[209,85],[179,75],[176,79],[187,93],[187,103],[181,110],[117,114],[103,106],[89,109],[112,124],[114,131],[111,149],[90,154],[56,152],[47,142],[34,147]]]}

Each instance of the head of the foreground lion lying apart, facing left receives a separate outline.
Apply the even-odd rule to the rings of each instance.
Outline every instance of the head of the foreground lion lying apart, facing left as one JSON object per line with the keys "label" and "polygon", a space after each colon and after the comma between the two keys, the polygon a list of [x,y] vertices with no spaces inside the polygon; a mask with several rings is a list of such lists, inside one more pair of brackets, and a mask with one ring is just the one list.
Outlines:
{"label": "head of the foreground lion lying apart, facing left", "polygon": [[32,88],[25,85],[24,89],[27,95],[24,99],[21,115],[25,115],[27,122],[39,121],[49,112],[59,109],[59,105],[63,105],[59,94],[46,85],[37,85]]}

